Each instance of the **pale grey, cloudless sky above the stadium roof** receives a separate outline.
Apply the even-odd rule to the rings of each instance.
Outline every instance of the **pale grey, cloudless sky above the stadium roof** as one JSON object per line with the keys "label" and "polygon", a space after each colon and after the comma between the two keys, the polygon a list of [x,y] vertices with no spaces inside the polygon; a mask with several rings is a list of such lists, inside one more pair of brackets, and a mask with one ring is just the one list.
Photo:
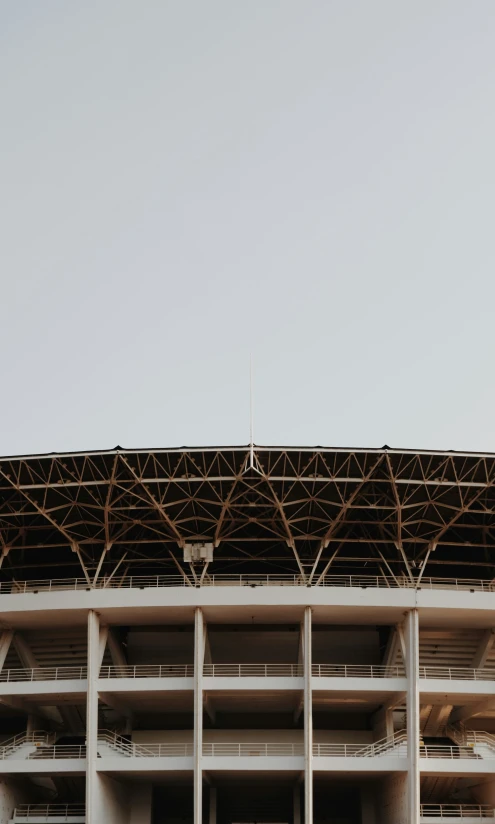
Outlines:
{"label": "pale grey, cloudless sky above the stadium roof", "polygon": [[495,451],[493,0],[0,0],[0,454]]}

